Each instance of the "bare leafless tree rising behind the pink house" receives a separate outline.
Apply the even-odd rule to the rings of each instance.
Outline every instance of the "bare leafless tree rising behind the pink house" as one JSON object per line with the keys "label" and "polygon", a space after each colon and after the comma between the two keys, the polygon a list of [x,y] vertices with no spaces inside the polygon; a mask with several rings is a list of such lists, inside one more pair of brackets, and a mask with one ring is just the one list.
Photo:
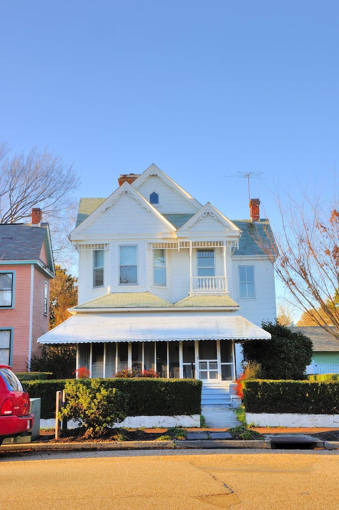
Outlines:
{"label": "bare leafless tree rising behind the pink house", "polygon": [[75,170],[53,151],[33,147],[27,155],[11,156],[9,145],[0,144],[0,223],[29,221],[32,207],[40,207],[50,224],[55,260],[63,264],[72,249],[67,234],[74,226],[78,187]]}

